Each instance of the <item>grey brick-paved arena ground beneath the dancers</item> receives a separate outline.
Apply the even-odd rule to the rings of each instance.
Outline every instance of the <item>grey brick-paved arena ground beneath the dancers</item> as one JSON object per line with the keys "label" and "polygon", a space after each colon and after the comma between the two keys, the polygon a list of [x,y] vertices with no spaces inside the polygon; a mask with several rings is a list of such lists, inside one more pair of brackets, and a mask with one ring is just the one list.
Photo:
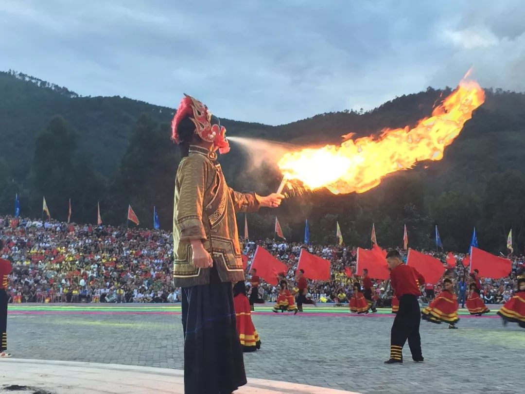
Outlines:
{"label": "grey brick-paved arena ground beneath the dancers", "polygon": [[[503,328],[496,316],[461,316],[458,330],[422,322],[425,363],[387,366],[392,316],[312,312],[254,315],[262,349],[245,356],[247,375],[361,393],[522,392],[525,331]],[[9,350],[20,358],[182,369],[177,314],[162,306],[15,306]],[[410,359],[407,347],[404,355]]]}

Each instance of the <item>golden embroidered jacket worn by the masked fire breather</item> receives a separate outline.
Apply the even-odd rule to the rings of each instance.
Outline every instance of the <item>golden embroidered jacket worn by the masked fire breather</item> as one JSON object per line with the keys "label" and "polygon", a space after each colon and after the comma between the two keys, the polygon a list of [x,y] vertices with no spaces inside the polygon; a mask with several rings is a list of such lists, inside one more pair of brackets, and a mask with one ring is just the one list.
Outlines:
{"label": "golden embroidered jacket worn by the masked fire breather", "polygon": [[203,241],[221,281],[244,281],[235,214],[257,211],[259,200],[255,193],[229,188],[216,157],[204,148],[191,146],[178,165],[173,210],[175,286],[209,283],[209,269],[196,268],[192,263],[192,240]]}

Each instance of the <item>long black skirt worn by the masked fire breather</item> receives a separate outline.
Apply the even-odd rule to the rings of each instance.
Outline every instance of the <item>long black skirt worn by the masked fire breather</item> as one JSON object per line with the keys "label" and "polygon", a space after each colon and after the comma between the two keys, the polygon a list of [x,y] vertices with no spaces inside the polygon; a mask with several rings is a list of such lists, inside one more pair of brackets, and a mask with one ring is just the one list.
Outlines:
{"label": "long black skirt worn by the masked fire breather", "polygon": [[209,285],[182,289],[185,394],[230,394],[247,383],[232,284],[209,269]]}

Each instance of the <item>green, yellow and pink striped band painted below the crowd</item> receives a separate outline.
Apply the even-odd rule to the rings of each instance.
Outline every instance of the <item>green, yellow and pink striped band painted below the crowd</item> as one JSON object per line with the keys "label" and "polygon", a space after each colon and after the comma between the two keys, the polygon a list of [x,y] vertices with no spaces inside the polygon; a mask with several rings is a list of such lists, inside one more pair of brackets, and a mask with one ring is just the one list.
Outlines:
{"label": "green, yellow and pink striped band painted below the crowd", "polygon": [[[492,305],[493,310],[483,315],[483,318],[498,318],[496,315],[500,305]],[[489,306],[490,308],[490,306]],[[76,304],[76,305],[49,305],[49,304],[9,304],[9,315],[180,315],[180,305],[166,304]],[[256,306],[254,315],[289,315],[292,313],[274,313],[271,306]],[[358,315],[350,313],[348,307],[320,306],[313,308],[304,308],[303,316],[339,316],[339,317],[388,317],[394,316],[390,308],[377,309],[375,313],[367,315]],[[480,318],[471,316],[467,309],[459,309],[458,315],[461,318]]]}

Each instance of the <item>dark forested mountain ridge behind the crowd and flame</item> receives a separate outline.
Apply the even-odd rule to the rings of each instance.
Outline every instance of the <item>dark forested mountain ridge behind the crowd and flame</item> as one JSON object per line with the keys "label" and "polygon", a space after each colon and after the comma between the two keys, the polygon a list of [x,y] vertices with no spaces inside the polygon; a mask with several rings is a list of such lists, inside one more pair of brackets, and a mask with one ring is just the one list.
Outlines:
{"label": "dark forested mountain ridge behind the crowd and flame", "polygon": [[[297,144],[337,143],[350,132],[370,135],[385,127],[413,125],[428,116],[450,90],[428,88],[369,111],[324,113],[277,127],[222,120],[229,136]],[[439,162],[419,163],[364,193],[327,191],[291,198],[277,211],[291,240],[302,239],[304,219],[314,242],[335,242],[335,220],[352,245],[370,244],[375,222],[383,246],[432,247],[434,224],[445,248],[466,251],[476,225],[481,247],[505,251],[512,227],[525,242],[525,95],[486,90],[486,102]],[[174,106],[177,103],[174,103]],[[212,108],[213,110],[213,108]],[[129,203],[151,226],[153,205],[171,226],[178,150],[170,141],[173,109],[121,97],[80,97],[35,77],[0,72],[0,214],[12,213],[20,194],[22,213],[40,216],[45,194],[51,214],[67,217],[71,198],[77,222],[124,222]],[[217,114],[220,117],[220,114]],[[250,168],[238,147],[221,158],[228,182],[240,190],[274,191],[279,172]],[[248,216],[250,235],[273,236],[274,212]]]}

